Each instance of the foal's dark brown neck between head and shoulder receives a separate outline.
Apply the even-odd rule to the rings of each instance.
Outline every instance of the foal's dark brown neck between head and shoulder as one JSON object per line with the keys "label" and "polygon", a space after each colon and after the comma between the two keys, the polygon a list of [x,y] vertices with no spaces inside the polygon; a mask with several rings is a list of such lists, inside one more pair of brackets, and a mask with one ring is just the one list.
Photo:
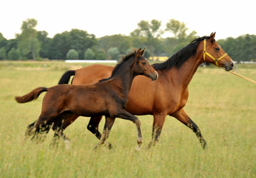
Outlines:
{"label": "foal's dark brown neck between head and shoulder", "polygon": [[124,94],[127,94],[130,91],[130,88],[132,86],[132,81],[134,77],[136,76],[134,73],[134,70],[132,69],[133,61],[129,60],[125,62],[122,67],[116,72],[114,77],[112,78],[112,81],[122,90]]}

